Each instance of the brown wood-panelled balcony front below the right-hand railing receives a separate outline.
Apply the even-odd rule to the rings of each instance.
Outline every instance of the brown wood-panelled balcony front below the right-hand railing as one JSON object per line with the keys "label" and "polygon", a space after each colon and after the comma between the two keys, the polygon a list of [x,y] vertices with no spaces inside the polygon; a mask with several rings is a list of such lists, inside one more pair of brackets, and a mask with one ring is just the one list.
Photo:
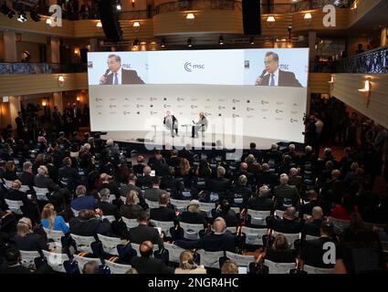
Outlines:
{"label": "brown wood-panelled balcony front below the right-hand railing", "polygon": [[[372,81],[369,99],[358,91],[364,87],[366,78]],[[388,74],[336,74],[330,94],[388,128]]]}

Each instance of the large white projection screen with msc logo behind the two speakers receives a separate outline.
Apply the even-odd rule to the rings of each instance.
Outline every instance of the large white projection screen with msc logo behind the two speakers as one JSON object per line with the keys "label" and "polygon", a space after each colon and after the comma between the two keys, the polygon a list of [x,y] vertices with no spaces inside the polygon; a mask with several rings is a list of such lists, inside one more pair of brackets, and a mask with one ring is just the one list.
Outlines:
{"label": "large white projection screen with msc logo behind the two speakers", "polygon": [[170,111],[191,135],[204,112],[207,133],[303,142],[308,64],[308,48],[89,53],[91,130],[147,137]]}

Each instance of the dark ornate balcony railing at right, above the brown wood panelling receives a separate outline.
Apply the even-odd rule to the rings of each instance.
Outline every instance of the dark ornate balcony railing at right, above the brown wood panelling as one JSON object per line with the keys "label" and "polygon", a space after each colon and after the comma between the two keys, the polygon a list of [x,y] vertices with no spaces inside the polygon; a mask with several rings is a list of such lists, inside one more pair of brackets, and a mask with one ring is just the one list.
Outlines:
{"label": "dark ornate balcony railing at right, above the brown wood panelling", "polygon": [[337,73],[388,73],[388,47],[337,60]]}

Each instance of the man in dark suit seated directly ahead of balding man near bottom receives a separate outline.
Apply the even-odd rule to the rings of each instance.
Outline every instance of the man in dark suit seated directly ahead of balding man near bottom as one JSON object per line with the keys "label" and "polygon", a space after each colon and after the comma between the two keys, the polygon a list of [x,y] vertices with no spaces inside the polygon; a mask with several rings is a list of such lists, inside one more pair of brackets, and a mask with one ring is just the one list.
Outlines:
{"label": "man in dark suit seated directly ahead of balding man near bottom", "polygon": [[149,226],[150,216],[142,211],[138,215],[139,225],[130,229],[130,241],[134,244],[141,245],[144,241],[151,241],[154,245],[163,248],[163,240],[156,228]]}

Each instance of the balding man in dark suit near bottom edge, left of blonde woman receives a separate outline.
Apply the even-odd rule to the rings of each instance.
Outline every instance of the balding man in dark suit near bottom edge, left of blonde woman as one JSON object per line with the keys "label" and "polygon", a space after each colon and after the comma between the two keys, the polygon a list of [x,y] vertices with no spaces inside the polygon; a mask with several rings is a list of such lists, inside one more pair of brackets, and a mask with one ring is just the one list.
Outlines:
{"label": "balding man in dark suit near bottom edge, left of blonde woman", "polygon": [[139,274],[173,274],[173,267],[165,266],[163,260],[151,257],[152,249],[152,242],[142,242],[140,245],[140,253],[142,256],[134,256],[131,259],[131,266]]}

